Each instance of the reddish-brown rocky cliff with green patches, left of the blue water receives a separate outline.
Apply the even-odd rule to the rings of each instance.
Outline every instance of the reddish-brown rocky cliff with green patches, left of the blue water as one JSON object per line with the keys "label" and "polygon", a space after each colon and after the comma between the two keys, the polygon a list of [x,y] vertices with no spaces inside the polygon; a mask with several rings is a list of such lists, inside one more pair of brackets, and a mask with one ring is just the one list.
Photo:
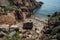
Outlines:
{"label": "reddish-brown rocky cliff with green patches, left of the blue water", "polygon": [[[43,3],[42,2],[37,2],[36,0],[6,0],[7,3],[10,5],[7,5],[5,0],[3,0],[4,3],[0,5],[0,24],[2,23],[9,23],[19,21],[19,20],[25,20],[26,18],[30,17],[32,15],[32,12],[34,9],[37,7],[41,6]],[[8,6],[5,6],[5,4]],[[2,6],[3,5],[3,6]],[[8,15],[10,13],[14,14],[13,15]],[[5,17],[6,16],[6,17]],[[9,18],[7,18],[9,17]],[[8,20],[5,20],[8,19]],[[9,20],[11,19],[11,20]],[[4,21],[3,21],[4,20]]]}

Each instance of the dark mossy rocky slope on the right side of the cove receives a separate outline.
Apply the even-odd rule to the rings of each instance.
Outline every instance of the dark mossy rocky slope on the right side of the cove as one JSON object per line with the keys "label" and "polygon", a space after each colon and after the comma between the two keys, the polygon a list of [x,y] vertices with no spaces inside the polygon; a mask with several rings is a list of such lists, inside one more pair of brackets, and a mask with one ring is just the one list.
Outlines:
{"label": "dark mossy rocky slope on the right side of the cove", "polygon": [[43,29],[43,40],[60,40],[60,12],[55,12]]}

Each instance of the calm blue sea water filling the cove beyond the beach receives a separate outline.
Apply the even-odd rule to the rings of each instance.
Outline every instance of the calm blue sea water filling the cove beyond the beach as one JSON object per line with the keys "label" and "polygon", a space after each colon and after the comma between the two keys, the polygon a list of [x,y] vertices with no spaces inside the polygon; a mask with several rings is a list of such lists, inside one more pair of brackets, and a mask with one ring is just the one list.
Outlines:
{"label": "calm blue sea water filling the cove beyond the beach", "polygon": [[59,12],[60,11],[60,0],[37,0],[42,1],[44,4],[42,5],[41,8],[37,8],[35,10],[35,16],[42,18],[42,19],[47,19],[48,14],[53,14],[54,12]]}

